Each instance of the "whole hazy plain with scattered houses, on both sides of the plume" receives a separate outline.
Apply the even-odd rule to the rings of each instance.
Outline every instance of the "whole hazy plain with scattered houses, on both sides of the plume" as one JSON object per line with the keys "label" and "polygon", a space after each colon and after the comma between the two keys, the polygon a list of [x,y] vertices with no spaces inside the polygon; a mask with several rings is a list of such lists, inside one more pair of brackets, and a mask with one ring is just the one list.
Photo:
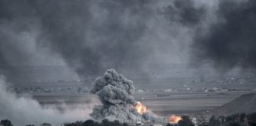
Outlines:
{"label": "whole hazy plain with scattered houses, on both sides of the plume", "polygon": [[[52,72],[50,79],[17,80],[14,90],[18,94],[31,94],[43,106],[65,103],[70,107],[77,107],[77,104],[92,107],[100,104],[96,95],[89,93],[96,77],[81,80],[55,77],[62,73],[58,70],[39,71],[36,76],[48,76],[49,71]],[[200,77],[186,70],[149,72],[147,76],[123,75],[133,80],[137,101],[159,114],[208,113],[240,95],[256,91],[256,77],[249,75],[215,76],[208,73]]]}

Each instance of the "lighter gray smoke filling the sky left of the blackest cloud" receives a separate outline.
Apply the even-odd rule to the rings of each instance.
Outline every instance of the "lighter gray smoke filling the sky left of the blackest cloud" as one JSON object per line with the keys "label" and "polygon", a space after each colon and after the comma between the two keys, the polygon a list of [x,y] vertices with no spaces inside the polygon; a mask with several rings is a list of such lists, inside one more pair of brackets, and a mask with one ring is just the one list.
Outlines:
{"label": "lighter gray smoke filling the sky left of the blackest cloud", "polygon": [[206,15],[196,3],[2,0],[0,65],[9,65],[8,78],[17,73],[12,65],[69,65],[94,77],[109,68],[143,73],[147,64],[184,63],[191,26]]}

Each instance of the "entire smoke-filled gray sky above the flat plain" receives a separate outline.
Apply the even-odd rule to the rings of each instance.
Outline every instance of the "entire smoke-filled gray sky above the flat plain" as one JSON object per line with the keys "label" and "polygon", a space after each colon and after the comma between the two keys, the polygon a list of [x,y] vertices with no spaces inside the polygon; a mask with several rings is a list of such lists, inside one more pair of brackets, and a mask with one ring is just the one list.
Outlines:
{"label": "entire smoke-filled gray sky above the flat plain", "polygon": [[0,65],[67,65],[81,76],[148,64],[254,69],[255,9],[254,0],[2,0]]}

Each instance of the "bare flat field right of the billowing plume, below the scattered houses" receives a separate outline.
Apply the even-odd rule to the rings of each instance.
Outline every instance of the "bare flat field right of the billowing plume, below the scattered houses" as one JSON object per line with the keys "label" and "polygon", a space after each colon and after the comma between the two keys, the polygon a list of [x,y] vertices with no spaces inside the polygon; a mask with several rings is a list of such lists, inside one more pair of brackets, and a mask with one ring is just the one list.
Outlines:
{"label": "bare flat field right of the billowing plume, below the scattered houses", "polygon": [[152,95],[155,95],[152,93],[137,95],[137,99],[155,113],[186,114],[207,112],[246,93],[248,91],[228,93],[159,93],[157,97],[152,97]]}

